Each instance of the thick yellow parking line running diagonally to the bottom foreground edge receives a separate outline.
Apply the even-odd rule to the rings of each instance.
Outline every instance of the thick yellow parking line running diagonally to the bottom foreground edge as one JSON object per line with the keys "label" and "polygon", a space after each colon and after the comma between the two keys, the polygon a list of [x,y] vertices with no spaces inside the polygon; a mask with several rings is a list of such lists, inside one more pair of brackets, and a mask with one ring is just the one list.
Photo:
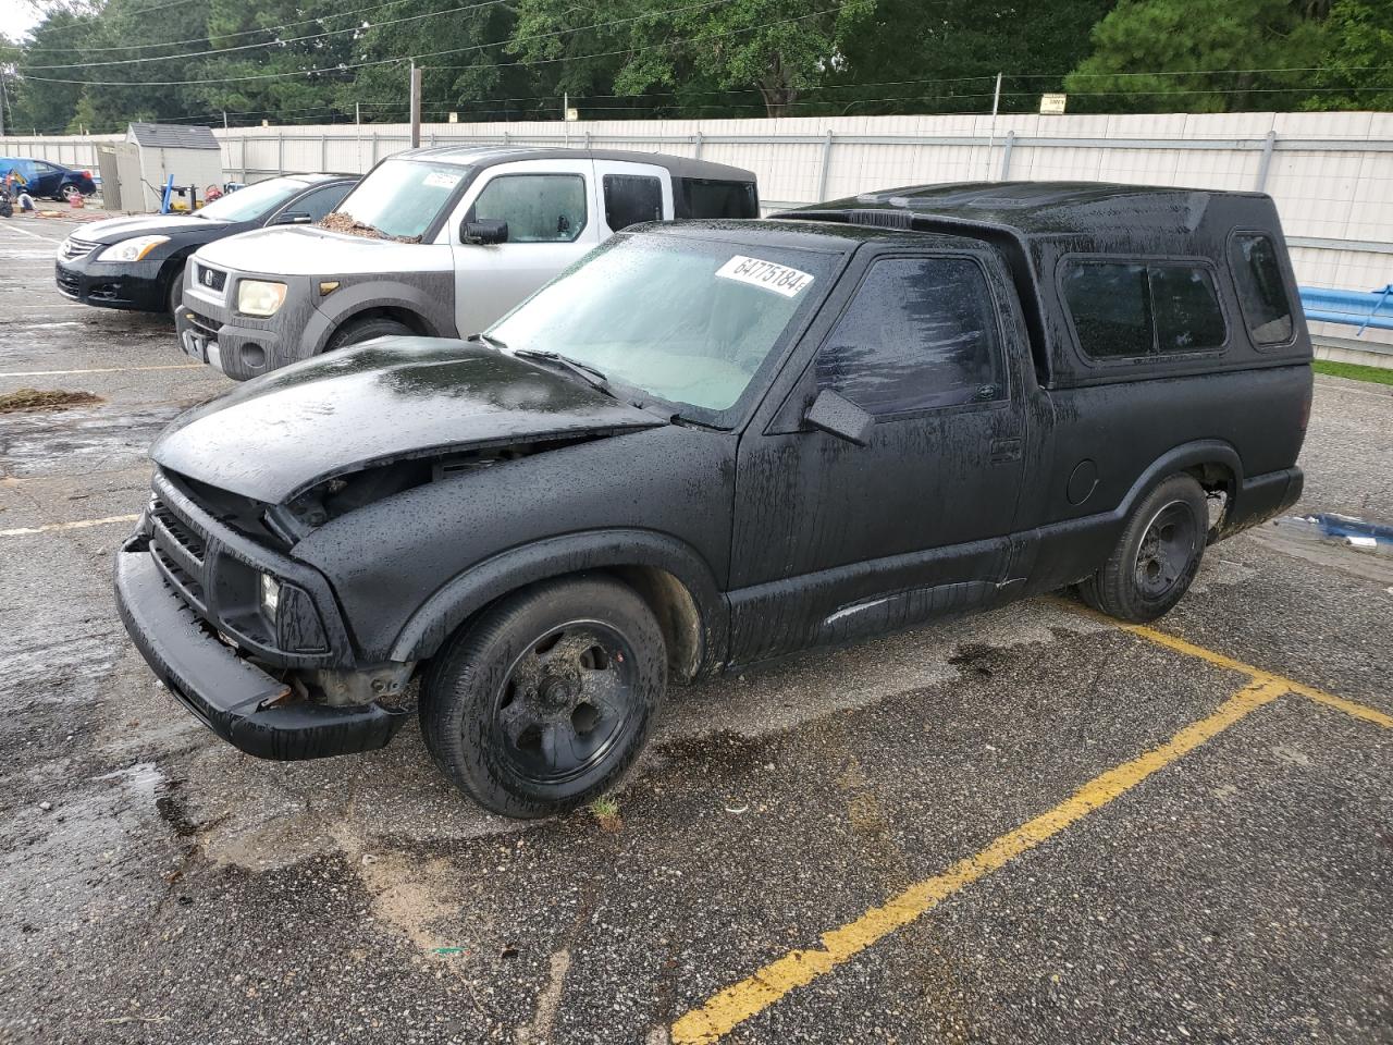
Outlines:
{"label": "thick yellow parking line running diagonally to the bottom foreground edge", "polygon": [[1000,836],[981,853],[960,860],[940,875],[910,886],[885,906],[866,911],[855,921],[823,934],[822,947],[790,952],[748,980],[727,986],[673,1024],[673,1045],[717,1041],[790,991],[830,973],[892,932],[924,917],[964,886],[1006,867],[1015,857],[1059,835],[1089,812],[1114,801],[1152,773],[1219,736],[1256,708],[1276,699],[1287,688],[1283,680],[1266,676],[1255,679],[1220,704],[1212,715],[1185,726],[1160,747],[1095,776],[1053,810]]}

